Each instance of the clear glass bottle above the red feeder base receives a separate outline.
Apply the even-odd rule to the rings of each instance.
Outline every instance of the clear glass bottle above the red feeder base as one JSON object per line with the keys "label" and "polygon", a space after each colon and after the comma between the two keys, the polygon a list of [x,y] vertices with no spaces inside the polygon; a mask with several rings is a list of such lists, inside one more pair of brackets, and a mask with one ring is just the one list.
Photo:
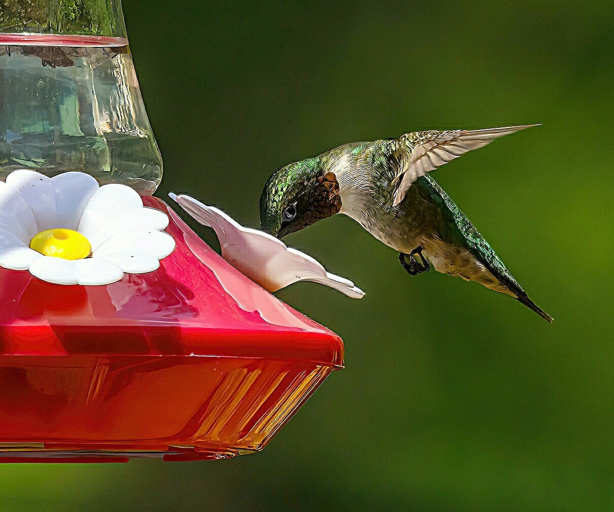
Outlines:
{"label": "clear glass bottle above the red feeder base", "polygon": [[162,159],[120,0],[6,0],[0,10],[0,179],[28,167],[155,191]]}

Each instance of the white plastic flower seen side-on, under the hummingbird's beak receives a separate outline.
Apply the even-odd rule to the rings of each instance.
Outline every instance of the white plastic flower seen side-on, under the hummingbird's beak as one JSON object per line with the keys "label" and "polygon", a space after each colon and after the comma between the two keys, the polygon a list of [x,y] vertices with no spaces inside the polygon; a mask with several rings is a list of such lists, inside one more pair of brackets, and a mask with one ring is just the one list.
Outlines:
{"label": "white plastic flower seen side-on, under the hummingbird's beak", "polygon": [[193,197],[169,194],[198,222],[209,226],[220,240],[222,257],[267,291],[273,292],[297,281],[314,281],[330,286],[352,299],[365,295],[352,281],[327,272],[319,262],[286,246],[284,242],[257,229],[243,227],[217,208]]}

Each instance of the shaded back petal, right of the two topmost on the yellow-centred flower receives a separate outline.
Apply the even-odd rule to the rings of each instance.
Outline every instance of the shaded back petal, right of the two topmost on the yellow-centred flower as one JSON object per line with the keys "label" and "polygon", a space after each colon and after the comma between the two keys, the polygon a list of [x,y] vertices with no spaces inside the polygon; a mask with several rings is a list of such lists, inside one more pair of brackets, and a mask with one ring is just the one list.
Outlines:
{"label": "shaded back petal, right of the two topmost on the yellow-centred flower", "polygon": [[[98,181],[85,172],[71,171],[51,178],[55,189],[57,226],[76,230],[85,206],[98,190]],[[42,230],[41,230],[42,231]]]}

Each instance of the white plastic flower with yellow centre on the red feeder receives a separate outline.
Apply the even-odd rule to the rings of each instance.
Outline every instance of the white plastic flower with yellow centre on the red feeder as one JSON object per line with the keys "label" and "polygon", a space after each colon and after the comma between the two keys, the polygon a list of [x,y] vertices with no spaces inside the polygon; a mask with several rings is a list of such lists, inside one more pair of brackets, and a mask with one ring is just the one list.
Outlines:
{"label": "white plastic flower with yellow centre on the red feeder", "polygon": [[[0,181],[0,266],[50,283],[108,285],[124,272],[152,272],[175,247],[166,226],[168,216],[144,207],[129,186],[99,186],[83,172],[49,178],[20,169]],[[45,255],[67,245],[68,256]]]}

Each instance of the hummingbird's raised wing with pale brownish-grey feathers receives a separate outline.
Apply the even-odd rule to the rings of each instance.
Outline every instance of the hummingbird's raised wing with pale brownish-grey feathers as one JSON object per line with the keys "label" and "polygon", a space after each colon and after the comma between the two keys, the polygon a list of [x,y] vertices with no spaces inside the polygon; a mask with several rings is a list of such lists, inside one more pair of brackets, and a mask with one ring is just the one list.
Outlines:
{"label": "hummingbird's raised wing with pale brownish-grey feathers", "polygon": [[396,151],[401,167],[392,181],[392,183],[401,181],[394,197],[394,206],[405,199],[412,183],[427,172],[464,155],[467,151],[484,147],[492,140],[530,126],[538,124],[482,130],[424,131],[403,135],[398,140],[399,146]]}

